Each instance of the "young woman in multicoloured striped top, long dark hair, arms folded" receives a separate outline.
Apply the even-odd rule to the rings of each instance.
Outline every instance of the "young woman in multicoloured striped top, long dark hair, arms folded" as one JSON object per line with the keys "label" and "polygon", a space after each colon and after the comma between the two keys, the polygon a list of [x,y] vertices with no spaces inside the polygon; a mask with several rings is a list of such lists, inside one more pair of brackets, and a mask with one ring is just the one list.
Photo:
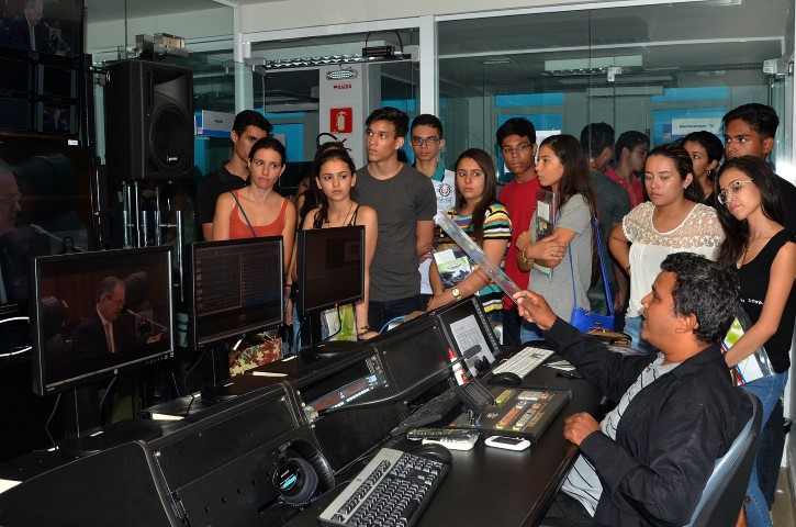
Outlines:
{"label": "young woman in multicoloured striped top, long dark hair, arms folded", "polygon": [[[448,212],[456,224],[475,239],[486,258],[500,266],[512,240],[512,220],[503,203],[497,201],[495,166],[484,150],[470,148],[456,160],[456,206]],[[429,310],[471,294],[478,294],[484,312],[493,313],[495,317],[503,310],[503,292],[482,270],[473,270],[448,289],[442,285],[437,266],[431,266],[428,278],[434,291]]]}

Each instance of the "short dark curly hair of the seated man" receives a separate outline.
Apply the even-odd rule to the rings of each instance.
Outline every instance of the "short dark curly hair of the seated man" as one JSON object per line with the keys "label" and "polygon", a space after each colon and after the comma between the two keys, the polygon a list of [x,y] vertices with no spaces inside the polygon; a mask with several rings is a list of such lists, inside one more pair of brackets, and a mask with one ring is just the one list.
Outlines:
{"label": "short dark curly hair of the seated man", "polygon": [[676,276],[672,298],[676,315],[696,316],[694,335],[707,344],[720,343],[740,307],[738,277],[729,267],[694,253],[666,256],[661,269]]}

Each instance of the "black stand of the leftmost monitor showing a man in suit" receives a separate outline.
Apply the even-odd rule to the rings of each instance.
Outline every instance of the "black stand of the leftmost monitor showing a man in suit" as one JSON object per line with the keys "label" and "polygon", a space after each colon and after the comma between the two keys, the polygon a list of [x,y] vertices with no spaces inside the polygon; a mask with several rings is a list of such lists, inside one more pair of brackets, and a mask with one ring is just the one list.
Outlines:
{"label": "black stand of the leftmost monitor showing a man in suit", "polygon": [[58,452],[82,458],[131,441],[150,441],[162,435],[155,421],[123,421],[101,426],[99,385],[90,383],[64,393],[66,437]]}

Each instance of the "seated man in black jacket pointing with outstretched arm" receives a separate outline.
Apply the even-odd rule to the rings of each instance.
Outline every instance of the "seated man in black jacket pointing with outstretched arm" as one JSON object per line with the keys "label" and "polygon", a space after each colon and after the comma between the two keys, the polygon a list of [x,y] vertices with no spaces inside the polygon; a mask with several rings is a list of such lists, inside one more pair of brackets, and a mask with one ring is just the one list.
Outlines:
{"label": "seated man in black jacket pointing with outstretched arm", "polygon": [[735,274],[690,253],[668,256],[661,269],[642,300],[641,336],[657,356],[612,352],[557,318],[542,296],[515,295],[520,315],[617,402],[602,423],[586,413],[567,418],[564,437],[581,456],[548,517],[685,525],[716,459],[752,415],[719,346],[738,307]]}

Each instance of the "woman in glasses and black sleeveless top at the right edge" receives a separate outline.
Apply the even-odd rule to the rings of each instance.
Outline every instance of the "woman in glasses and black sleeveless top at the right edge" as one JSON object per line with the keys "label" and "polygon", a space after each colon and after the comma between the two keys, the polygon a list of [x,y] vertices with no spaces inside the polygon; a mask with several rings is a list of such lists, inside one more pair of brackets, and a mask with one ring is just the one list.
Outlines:
{"label": "woman in glasses and black sleeveless top at the right edge", "polygon": [[[752,325],[727,351],[736,366],[761,346],[773,374],[748,382],[744,389],[763,403],[763,427],[782,396],[791,368],[789,350],[796,318],[796,243],[783,224],[784,204],[769,165],[756,157],[728,160],[719,171],[716,201],[726,238],[718,262],[738,268],[741,304]],[[769,507],[758,487],[756,460],[744,505],[751,527],[769,526]]]}

